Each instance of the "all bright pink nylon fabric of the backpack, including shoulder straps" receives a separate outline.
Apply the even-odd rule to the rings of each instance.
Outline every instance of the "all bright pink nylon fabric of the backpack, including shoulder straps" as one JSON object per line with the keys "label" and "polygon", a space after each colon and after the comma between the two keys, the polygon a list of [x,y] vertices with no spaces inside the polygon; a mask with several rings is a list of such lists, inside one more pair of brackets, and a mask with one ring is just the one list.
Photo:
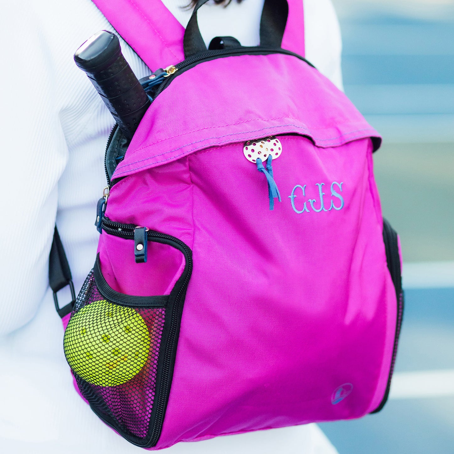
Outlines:
{"label": "all bright pink nylon fabric of the backpack, including shoulder straps", "polygon": [[[164,61],[182,43],[174,23],[173,40],[155,54],[158,25],[168,19],[167,10],[151,8],[160,2],[95,3],[149,66],[175,63]],[[284,42],[301,48],[296,4]],[[243,145],[276,134],[281,202],[270,211],[266,178]],[[115,171],[122,179],[106,216],[177,237],[193,252],[153,449],[378,407],[396,325],[373,178],[378,143],[344,94],[289,55],[199,64],[152,103]],[[132,240],[104,232],[99,242],[104,277],[130,295],[170,291],[183,259],[166,251],[150,246],[148,262],[136,264]],[[341,387],[350,394],[337,402]]]}

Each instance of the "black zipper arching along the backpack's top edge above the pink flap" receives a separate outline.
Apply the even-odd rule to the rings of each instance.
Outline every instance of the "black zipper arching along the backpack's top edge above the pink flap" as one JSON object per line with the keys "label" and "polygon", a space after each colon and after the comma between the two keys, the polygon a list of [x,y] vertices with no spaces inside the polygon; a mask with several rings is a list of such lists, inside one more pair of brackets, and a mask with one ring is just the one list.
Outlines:
{"label": "black zipper arching along the backpack's top edge above the pink flap", "polygon": [[158,90],[153,96],[153,100],[156,99],[158,94],[160,94],[163,89],[165,89],[168,84],[172,82],[178,74],[183,74],[188,69],[193,68],[199,63],[203,63],[205,61],[222,58],[222,57],[231,57],[234,55],[268,55],[268,54],[285,54],[285,55],[292,55],[294,57],[299,58],[302,61],[305,61],[309,66],[315,68],[313,64],[307,61],[301,55],[295,54],[295,52],[291,52],[290,50],[286,49],[276,49],[276,48],[266,48],[266,47],[239,47],[237,49],[227,48],[227,49],[218,49],[218,50],[207,50],[206,52],[201,52],[200,54],[194,55],[186,60],[183,60],[181,63],[175,65],[175,68],[178,71],[175,71],[172,75],[168,76],[164,82],[159,85]]}

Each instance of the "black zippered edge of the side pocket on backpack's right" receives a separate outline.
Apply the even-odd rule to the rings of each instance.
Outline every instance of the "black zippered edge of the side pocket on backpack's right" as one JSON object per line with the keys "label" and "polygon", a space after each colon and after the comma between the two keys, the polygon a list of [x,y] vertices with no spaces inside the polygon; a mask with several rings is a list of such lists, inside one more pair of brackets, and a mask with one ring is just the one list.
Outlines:
{"label": "black zippered edge of the side pocket on backpack's right", "polygon": [[402,290],[402,276],[400,272],[400,256],[399,256],[399,242],[397,233],[391,227],[390,223],[383,219],[383,241],[385,243],[386,262],[390,271],[391,279],[393,281],[396,298],[397,298],[397,320],[394,338],[393,356],[391,359],[390,375],[386,385],[385,395],[383,396],[380,405],[371,413],[378,413],[386,404],[390,395],[391,378],[394,372],[394,365],[397,355],[397,345],[399,343],[400,327],[402,326],[402,318],[404,313],[404,292]]}

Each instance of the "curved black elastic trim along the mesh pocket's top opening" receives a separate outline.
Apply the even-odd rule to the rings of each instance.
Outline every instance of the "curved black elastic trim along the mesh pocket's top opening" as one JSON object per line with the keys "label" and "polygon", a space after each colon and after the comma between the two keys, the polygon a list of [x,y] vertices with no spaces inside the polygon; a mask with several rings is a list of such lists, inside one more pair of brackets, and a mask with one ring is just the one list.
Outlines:
{"label": "curved black elastic trim along the mesh pocket's top opening", "polygon": [[166,307],[169,296],[158,295],[158,296],[132,296],[125,295],[115,291],[104,279],[103,273],[101,272],[101,262],[99,261],[99,252],[96,256],[96,262],[94,262],[93,276],[96,286],[99,292],[108,300],[119,304],[121,306],[132,306],[132,307]]}

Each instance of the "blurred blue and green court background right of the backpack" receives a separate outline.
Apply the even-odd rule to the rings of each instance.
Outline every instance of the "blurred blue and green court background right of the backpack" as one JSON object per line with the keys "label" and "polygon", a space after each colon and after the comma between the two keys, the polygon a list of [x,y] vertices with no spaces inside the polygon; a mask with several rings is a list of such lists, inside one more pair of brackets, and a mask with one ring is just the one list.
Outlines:
{"label": "blurred blue and green court background right of the backpack", "polygon": [[345,92],[384,137],[375,177],[406,306],[384,410],[321,427],[340,454],[453,454],[454,1],[333,3]]}

